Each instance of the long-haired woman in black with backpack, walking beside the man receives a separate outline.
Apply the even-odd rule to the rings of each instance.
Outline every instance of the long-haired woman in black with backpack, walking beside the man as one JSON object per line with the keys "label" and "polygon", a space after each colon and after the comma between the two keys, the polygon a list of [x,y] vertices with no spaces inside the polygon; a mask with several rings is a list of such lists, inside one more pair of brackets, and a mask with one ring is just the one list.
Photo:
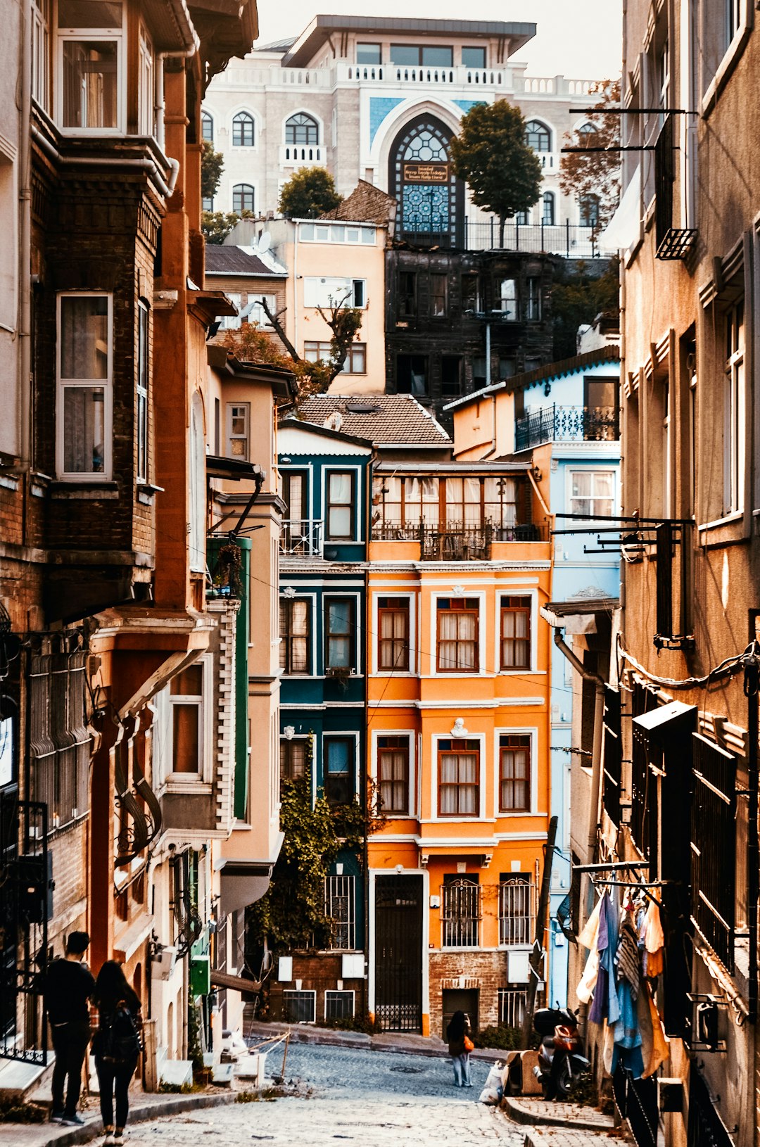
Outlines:
{"label": "long-haired woman in black with backpack, walking beside the man", "polygon": [[[107,1144],[124,1141],[130,1114],[130,1080],[140,1054],[140,999],[117,960],[107,960],[97,973],[93,1002],[99,1023],[94,1039],[95,1070],[100,1083],[100,1111]],[[116,1123],[113,1091],[116,1089]]]}

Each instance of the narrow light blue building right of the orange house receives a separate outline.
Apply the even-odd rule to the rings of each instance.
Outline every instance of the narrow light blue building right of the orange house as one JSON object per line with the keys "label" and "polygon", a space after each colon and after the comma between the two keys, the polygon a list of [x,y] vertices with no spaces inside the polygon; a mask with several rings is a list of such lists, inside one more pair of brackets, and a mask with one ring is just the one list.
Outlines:
{"label": "narrow light blue building right of the orange house", "polygon": [[[620,351],[605,343],[563,362],[511,380],[515,401],[515,451],[528,452],[541,490],[548,489],[548,508],[555,529],[570,529],[563,514],[611,516],[620,504]],[[543,471],[543,473],[541,473]],[[588,551],[596,551],[589,553]],[[595,637],[597,615],[586,604],[613,601],[620,585],[617,549],[600,553],[595,536],[555,533],[553,602],[563,602],[567,624],[565,641],[572,647],[573,630],[582,633],[577,655],[591,672],[609,656],[609,630]],[[578,602],[578,614],[572,603]],[[601,662],[598,661],[601,658]],[[588,768],[594,738],[595,688],[593,681],[573,677],[571,663],[557,653],[551,661],[551,813],[557,816],[557,844],[550,894],[550,945],[548,999],[562,1004],[567,997],[567,939],[557,910],[571,892],[572,836],[585,838],[587,811],[571,799],[571,763]],[[578,704],[580,702],[580,712]],[[573,708],[575,712],[573,713]],[[572,807],[572,819],[571,819]]]}

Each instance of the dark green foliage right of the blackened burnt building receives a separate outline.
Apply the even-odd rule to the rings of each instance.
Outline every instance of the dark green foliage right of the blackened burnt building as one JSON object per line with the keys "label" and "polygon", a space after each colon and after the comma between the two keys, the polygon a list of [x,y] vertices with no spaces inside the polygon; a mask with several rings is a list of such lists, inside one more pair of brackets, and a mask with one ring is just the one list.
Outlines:
{"label": "dark green foliage right of the blackened burnt building", "polygon": [[597,263],[580,262],[573,266],[564,259],[556,260],[551,288],[555,361],[578,353],[575,337],[581,323],[593,322],[597,314],[618,313],[617,256],[610,259],[602,274],[600,270]]}

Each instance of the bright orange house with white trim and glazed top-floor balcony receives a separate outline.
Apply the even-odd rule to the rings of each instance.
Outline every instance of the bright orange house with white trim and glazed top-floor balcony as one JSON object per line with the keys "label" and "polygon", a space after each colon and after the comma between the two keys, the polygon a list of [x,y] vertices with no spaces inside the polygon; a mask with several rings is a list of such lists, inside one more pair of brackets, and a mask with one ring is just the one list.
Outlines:
{"label": "bright orange house with white trim and glazed top-floor balcony", "polygon": [[457,1008],[517,1025],[549,819],[548,526],[515,462],[381,450],[373,509],[369,1009],[389,1030],[442,1035]]}

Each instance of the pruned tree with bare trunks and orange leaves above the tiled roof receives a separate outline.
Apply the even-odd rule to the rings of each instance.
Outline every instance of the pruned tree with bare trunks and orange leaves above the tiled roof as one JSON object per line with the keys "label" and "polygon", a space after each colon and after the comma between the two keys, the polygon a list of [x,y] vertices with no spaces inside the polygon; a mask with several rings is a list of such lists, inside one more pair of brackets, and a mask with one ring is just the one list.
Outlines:
{"label": "pruned tree with bare trunks and orange leaves above the tiled roof", "polygon": [[310,395],[323,395],[332,380],[340,373],[351,344],[361,329],[362,312],[357,306],[345,306],[347,295],[342,298],[331,298],[330,306],[324,309],[319,306],[318,311],[332,331],[330,340],[330,357],[319,359],[316,362],[307,362],[300,357],[291,341],[285,334],[282,323],[284,310],[272,311],[266,302],[261,301],[261,306],[267,319],[274,327],[280,342],[284,346],[287,354],[283,354],[277,345],[259,329],[254,322],[245,322],[237,329],[230,328],[225,336],[225,346],[234,352],[236,358],[250,362],[269,362],[274,366],[284,366],[296,375],[298,395],[296,404],[303,403]]}

